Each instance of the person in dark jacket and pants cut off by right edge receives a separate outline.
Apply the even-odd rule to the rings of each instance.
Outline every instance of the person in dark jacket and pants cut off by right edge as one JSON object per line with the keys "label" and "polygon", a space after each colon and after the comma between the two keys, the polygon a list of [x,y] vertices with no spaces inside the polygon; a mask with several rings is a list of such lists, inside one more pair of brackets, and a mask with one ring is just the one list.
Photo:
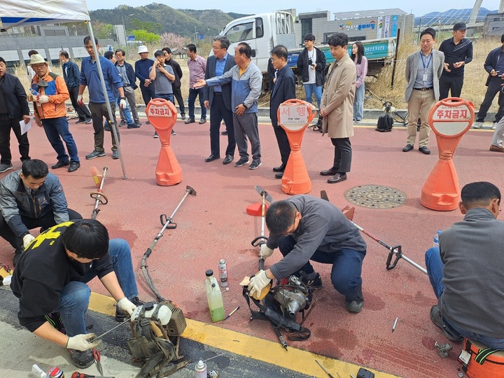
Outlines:
{"label": "person in dark jacket and pants cut off by right edge", "polygon": [[[501,45],[498,48],[491,50],[483,64],[484,69],[489,73],[489,76],[486,78],[486,93],[484,100],[479,106],[477,116],[475,116],[476,122],[472,125],[475,129],[479,129],[483,126],[486,113],[488,113],[496,94],[499,94],[498,111],[496,113],[495,120],[493,121],[492,129],[496,128],[500,119],[504,116],[504,93],[502,92],[502,85],[504,83],[504,34],[500,36],[500,43]],[[492,143],[492,145],[496,146],[494,143]],[[503,152],[492,148],[490,151]]]}

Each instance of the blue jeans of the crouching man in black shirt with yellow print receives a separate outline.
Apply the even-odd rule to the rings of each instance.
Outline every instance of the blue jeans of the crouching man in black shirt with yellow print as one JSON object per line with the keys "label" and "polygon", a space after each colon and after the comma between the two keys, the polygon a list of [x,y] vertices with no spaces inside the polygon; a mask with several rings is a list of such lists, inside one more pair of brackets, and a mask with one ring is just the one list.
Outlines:
{"label": "blue jeans of the crouching man in black shirt with yellow print", "polygon": [[[133,271],[131,250],[127,241],[124,239],[111,239],[109,255],[123,293],[129,299],[136,297],[138,295],[137,282]],[[89,307],[91,296],[91,289],[86,283],[96,275],[97,272],[90,270],[85,274],[82,281],[70,281],[63,287],[59,298],[59,309],[56,311],[61,314],[66,335],[75,336],[86,333],[84,316],[87,307]]]}

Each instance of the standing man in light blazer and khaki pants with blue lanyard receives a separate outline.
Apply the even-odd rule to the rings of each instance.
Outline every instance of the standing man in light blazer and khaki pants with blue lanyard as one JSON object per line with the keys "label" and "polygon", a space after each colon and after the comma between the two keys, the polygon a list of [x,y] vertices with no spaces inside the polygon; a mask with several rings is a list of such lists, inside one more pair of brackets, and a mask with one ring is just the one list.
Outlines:
{"label": "standing man in light blazer and khaki pants with blue lanyard", "polygon": [[406,95],[409,123],[407,144],[402,152],[412,151],[416,139],[416,123],[420,119],[419,151],[430,154],[427,148],[430,126],[428,113],[439,98],[439,79],[443,70],[444,54],[434,50],[435,30],[428,27],[420,33],[420,51],[406,59]]}

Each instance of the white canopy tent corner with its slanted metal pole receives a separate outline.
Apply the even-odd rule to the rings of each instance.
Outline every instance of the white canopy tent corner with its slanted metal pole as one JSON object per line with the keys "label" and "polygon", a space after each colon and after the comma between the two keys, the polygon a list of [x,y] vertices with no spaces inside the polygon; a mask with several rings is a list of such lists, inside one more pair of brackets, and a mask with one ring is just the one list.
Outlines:
{"label": "white canopy tent corner with its slanted metal pole", "polygon": [[[94,48],[94,56],[98,57],[99,52],[94,43],[94,34],[91,27],[89,11],[85,0],[1,0],[0,6],[0,29],[6,30],[17,26],[46,25],[56,22],[86,22],[87,29],[91,36]],[[102,91],[106,94],[105,80],[102,66],[97,59],[98,73],[102,81]],[[112,113],[109,97],[104,96],[111,120],[115,120]],[[112,132],[117,141],[118,153],[121,167],[123,168],[123,179],[127,179],[126,169],[121,153],[118,129],[115,122],[112,122]]]}

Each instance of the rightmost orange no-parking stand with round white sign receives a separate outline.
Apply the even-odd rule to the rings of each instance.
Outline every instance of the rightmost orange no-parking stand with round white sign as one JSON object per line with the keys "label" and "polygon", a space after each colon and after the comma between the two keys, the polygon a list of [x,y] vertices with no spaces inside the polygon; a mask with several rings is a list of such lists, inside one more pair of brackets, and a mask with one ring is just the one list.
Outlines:
{"label": "rightmost orange no-parking stand with round white sign", "polygon": [[435,132],[439,160],[421,189],[420,203],[424,207],[437,211],[458,207],[460,186],[453,155],[473,121],[474,105],[458,97],[443,99],[430,109],[428,123]]}

